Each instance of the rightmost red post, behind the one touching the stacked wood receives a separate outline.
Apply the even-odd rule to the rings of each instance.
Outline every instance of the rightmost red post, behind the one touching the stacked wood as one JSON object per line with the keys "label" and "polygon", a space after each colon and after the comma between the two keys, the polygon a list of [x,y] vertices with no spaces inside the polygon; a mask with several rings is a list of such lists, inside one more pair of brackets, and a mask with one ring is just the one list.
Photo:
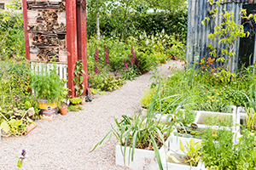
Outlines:
{"label": "rightmost red post, behind the one touching the stacked wood", "polygon": [[86,1],[78,0],[77,20],[78,20],[78,59],[81,59],[84,65],[86,75],[84,77],[84,95],[88,88],[88,69],[87,69],[87,31],[86,31]]}

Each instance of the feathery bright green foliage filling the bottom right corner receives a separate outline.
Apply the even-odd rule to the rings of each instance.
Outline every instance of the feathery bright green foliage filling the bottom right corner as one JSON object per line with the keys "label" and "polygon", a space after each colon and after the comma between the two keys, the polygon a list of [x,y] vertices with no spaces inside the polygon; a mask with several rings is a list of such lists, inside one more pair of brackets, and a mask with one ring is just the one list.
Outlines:
{"label": "feathery bright green foliage filling the bottom right corner", "polygon": [[202,141],[202,161],[207,169],[254,169],[256,149],[254,136],[245,132],[237,144],[231,130],[221,129],[212,133],[209,128]]}

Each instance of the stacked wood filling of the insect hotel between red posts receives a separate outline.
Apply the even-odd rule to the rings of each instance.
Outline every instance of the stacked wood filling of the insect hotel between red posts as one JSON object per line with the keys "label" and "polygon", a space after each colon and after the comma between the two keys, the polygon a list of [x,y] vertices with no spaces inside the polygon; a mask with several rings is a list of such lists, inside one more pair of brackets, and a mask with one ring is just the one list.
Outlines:
{"label": "stacked wood filling of the insect hotel between red posts", "polygon": [[30,59],[67,63],[65,0],[26,1]]}

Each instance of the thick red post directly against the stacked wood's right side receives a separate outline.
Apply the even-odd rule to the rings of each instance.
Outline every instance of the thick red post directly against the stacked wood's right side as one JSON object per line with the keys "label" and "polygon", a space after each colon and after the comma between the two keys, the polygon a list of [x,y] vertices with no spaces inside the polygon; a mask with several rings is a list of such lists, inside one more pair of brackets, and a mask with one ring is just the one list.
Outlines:
{"label": "thick red post directly against the stacked wood's right side", "polygon": [[76,0],[66,0],[68,88],[71,89],[69,95],[72,97],[75,96],[73,71],[78,60],[76,6]]}

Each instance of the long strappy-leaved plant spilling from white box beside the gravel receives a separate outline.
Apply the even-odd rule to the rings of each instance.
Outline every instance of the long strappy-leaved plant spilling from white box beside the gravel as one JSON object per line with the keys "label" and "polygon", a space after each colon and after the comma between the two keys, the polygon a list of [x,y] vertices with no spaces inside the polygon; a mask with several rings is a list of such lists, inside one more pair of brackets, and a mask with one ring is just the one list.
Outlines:
{"label": "long strappy-leaved plant spilling from white box beside the gravel", "polygon": [[[159,90],[160,86],[154,96],[152,103],[148,106],[147,116],[142,118],[141,111],[140,113],[135,114],[135,116],[132,118],[129,116],[122,116],[123,118],[120,122],[114,118],[116,126],[112,126],[112,130],[110,130],[107,135],[96,144],[93,150],[95,150],[99,144],[102,144],[108,135],[113,134],[119,140],[119,144],[125,147],[125,150],[122,153],[124,156],[124,161],[126,148],[128,146],[130,146],[129,152],[131,153],[129,154],[128,160],[131,161],[133,161],[135,148],[154,148],[156,160],[158,161],[160,169],[163,169],[160,161],[159,148],[162,144],[164,144],[165,139],[168,138],[172,132],[173,124],[166,122],[170,120],[174,111],[177,111],[177,108],[170,113],[170,116],[167,116],[166,122],[160,123],[160,121],[155,121],[156,110],[154,109],[154,105],[158,103],[156,97],[158,96]],[[176,96],[169,97],[174,98]],[[169,105],[174,105],[174,103],[170,103]],[[165,112],[163,112],[163,114],[165,114]]]}

